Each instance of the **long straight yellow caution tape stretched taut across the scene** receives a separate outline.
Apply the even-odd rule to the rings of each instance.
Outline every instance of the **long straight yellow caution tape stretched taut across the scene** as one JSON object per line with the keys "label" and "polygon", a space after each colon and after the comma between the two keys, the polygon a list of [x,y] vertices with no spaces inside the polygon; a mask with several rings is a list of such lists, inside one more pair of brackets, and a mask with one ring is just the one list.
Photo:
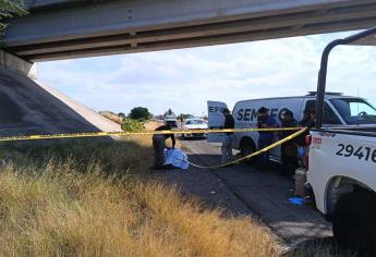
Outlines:
{"label": "long straight yellow caution tape stretched taut across the scene", "polygon": [[130,136],[130,135],[159,135],[159,134],[208,134],[208,133],[227,133],[227,132],[252,132],[252,131],[296,131],[300,127],[276,127],[276,128],[226,128],[226,130],[179,130],[179,131],[146,131],[146,132],[88,132],[88,133],[70,133],[70,134],[46,134],[28,136],[3,136],[0,142],[12,140],[39,140],[57,138],[77,138],[77,137],[99,137],[99,136]]}

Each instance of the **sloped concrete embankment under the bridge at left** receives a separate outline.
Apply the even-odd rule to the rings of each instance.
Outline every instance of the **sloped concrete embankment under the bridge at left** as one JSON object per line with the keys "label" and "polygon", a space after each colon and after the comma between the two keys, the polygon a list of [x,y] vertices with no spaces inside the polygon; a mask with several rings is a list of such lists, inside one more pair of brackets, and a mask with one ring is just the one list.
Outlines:
{"label": "sloped concrete embankment under the bridge at left", "polygon": [[0,69],[0,136],[121,131],[60,91]]}

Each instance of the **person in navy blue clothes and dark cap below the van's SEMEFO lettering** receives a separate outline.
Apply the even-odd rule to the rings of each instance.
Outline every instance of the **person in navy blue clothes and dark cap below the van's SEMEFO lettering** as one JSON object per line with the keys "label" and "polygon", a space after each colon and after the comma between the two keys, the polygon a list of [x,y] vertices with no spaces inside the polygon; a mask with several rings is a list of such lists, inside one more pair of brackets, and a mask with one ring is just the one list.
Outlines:
{"label": "person in navy blue clothes and dark cap below the van's SEMEFO lettering", "polygon": [[[262,107],[257,111],[257,127],[258,128],[275,128],[278,126],[277,121],[269,115],[269,109]],[[258,132],[258,150],[272,144],[274,132],[272,131],[259,131]],[[265,169],[269,164],[269,151],[265,151],[259,155],[259,168]]]}

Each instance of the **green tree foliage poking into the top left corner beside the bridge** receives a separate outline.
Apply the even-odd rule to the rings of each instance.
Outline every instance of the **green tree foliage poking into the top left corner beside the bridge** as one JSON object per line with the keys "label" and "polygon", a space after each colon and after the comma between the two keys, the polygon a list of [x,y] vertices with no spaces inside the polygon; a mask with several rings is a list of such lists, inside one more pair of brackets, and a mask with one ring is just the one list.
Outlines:
{"label": "green tree foliage poking into the top left corner beside the bridge", "polygon": [[23,16],[28,14],[23,0],[0,0],[0,41],[2,40],[5,28],[9,23],[8,20],[15,16]]}

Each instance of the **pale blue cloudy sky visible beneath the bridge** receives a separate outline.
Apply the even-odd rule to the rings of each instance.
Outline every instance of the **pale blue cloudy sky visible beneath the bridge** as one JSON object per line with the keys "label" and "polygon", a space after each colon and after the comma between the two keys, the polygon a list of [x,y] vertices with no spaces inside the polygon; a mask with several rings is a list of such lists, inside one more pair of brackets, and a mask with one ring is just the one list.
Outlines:
{"label": "pale blue cloudy sky visible beneath the bridge", "polygon": [[[239,100],[316,90],[325,46],[337,33],[211,47],[71,59],[38,64],[38,79],[87,107],[129,113],[203,115],[207,100]],[[329,58],[328,91],[376,105],[376,48],[340,47]]]}

